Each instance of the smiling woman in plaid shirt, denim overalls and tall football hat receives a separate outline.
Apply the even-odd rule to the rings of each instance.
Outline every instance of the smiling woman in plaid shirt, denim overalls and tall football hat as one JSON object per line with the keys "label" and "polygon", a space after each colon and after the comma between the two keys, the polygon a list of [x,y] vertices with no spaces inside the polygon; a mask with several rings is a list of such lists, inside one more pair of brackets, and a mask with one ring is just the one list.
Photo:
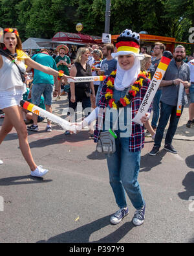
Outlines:
{"label": "smiling woman in plaid shirt, denim overalls and tall football hat", "polygon": [[[103,83],[98,108],[77,124],[80,130],[98,119],[94,131],[95,142],[98,141],[102,130],[111,128],[116,133],[116,152],[107,156],[107,165],[110,184],[120,209],[111,216],[111,223],[118,224],[128,214],[125,199],[127,193],[136,209],[133,216],[135,226],[143,224],[146,208],[138,183],[140,153],[144,146],[144,126],[135,124],[132,119],[140,108],[150,82],[147,74],[140,72],[140,60],[144,55],[139,54],[139,39],[139,34],[131,30],[125,30],[117,38],[117,52],[112,53],[114,58],[118,57],[117,70]],[[116,120],[111,118],[111,113],[113,116],[116,113]],[[148,117],[149,113],[142,117],[141,121],[146,124]]]}

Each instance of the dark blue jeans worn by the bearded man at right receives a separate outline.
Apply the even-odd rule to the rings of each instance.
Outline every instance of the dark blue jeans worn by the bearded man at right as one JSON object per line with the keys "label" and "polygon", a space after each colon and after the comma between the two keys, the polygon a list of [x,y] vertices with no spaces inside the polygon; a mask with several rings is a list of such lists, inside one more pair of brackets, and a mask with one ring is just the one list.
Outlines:
{"label": "dark blue jeans worn by the bearded man at right", "polygon": [[[182,106],[182,111],[183,111],[183,108],[184,107]],[[177,130],[178,121],[180,119],[177,117],[176,113],[177,113],[177,106],[171,106],[164,102],[161,102],[160,120],[158,123],[158,128],[156,130],[156,135],[155,135],[155,146],[157,146],[158,148],[161,146],[164,130],[166,128],[169,117],[170,117],[170,122],[169,122],[169,127],[167,129],[167,134],[165,138],[165,145],[172,144],[173,137]]]}

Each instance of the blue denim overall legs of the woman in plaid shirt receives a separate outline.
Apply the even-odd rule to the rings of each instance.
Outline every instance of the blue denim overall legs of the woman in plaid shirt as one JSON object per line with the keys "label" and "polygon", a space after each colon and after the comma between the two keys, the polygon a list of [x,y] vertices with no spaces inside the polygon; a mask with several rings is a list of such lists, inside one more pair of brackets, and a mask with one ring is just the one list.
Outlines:
{"label": "blue denim overall legs of the woman in plaid shirt", "polygon": [[[118,132],[116,132],[118,134]],[[144,199],[138,183],[141,152],[129,152],[129,137],[116,139],[116,152],[107,156],[109,181],[118,207],[127,207],[125,192],[136,209],[144,206]]]}

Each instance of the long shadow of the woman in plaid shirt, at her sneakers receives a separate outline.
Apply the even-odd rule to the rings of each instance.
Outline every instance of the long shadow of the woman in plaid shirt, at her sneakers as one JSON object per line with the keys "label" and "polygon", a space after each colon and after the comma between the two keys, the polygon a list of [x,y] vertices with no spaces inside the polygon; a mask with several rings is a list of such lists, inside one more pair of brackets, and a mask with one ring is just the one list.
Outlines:
{"label": "long shadow of the woman in plaid shirt, at her sneakers", "polygon": [[[105,216],[94,222],[78,227],[77,229],[67,231],[65,233],[51,237],[48,240],[40,240],[38,243],[88,243],[92,233],[102,229],[110,224],[111,215]],[[122,226],[116,229],[113,233],[103,237],[100,240],[92,241],[91,243],[117,243],[119,242],[134,225],[132,222],[125,222]]]}

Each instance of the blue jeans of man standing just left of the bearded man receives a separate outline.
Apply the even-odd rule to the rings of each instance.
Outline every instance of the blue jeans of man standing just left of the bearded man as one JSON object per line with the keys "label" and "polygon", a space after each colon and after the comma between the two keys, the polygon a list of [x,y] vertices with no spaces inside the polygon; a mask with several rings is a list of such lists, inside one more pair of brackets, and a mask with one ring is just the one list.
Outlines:
{"label": "blue jeans of man standing just left of the bearded man", "polygon": [[158,89],[158,91],[156,91],[155,97],[153,99],[153,117],[152,117],[152,121],[151,121],[151,126],[153,126],[153,128],[157,127],[157,122],[158,119],[160,117],[160,99],[162,97],[162,89]]}

